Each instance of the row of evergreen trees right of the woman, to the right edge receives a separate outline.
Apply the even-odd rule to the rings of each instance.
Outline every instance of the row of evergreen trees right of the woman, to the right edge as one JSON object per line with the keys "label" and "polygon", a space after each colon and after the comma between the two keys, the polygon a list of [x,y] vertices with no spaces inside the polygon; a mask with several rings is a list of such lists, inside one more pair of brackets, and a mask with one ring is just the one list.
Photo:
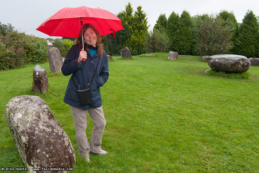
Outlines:
{"label": "row of evergreen trees right of the woman, to the right edge", "polygon": [[[141,6],[134,12],[130,3],[117,17],[124,30],[103,36],[105,50],[119,55],[128,47],[132,55],[175,51],[185,55],[239,54],[247,58],[259,57],[258,16],[247,11],[242,23],[233,12],[190,16],[172,12],[168,18],[160,14],[153,29],[147,25],[146,13]],[[149,30],[150,29],[150,30]],[[149,30],[149,31],[148,31]]]}

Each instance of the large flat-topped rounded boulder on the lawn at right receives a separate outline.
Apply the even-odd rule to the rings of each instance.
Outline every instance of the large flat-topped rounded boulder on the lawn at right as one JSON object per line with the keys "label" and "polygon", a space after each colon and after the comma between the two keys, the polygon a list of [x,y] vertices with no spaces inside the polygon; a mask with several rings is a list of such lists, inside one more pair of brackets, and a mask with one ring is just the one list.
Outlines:
{"label": "large flat-topped rounded boulder on the lawn at right", "polygon": [[242,55],[221,54],[213,55],[210,58],[208,65],[216,71],[243,73],[251,66],[247,57]]}

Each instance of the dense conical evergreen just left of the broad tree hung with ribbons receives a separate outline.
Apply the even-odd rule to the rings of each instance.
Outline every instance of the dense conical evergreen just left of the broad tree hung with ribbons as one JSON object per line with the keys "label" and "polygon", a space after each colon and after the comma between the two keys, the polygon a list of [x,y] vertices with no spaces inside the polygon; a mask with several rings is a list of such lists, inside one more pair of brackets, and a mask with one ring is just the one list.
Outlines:
{"label": "dense conical evergreen just left of the broad tree hung with ribbons", "polygon": [[179,20],[179,25],[174,37],[176,41],[175,50],[179,54],[192,54],[193,49],[193,21],[187,11],[183,11]]}

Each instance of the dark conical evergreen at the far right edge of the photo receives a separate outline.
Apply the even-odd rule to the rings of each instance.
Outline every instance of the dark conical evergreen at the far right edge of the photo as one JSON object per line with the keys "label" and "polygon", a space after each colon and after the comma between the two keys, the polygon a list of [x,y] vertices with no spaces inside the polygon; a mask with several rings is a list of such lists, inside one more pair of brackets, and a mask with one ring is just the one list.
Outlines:
{"label": "dark conical evergreen at the far right edge of the photo", "polygon": [[256,16],[248,11],[240,24],[237,52],[247,58],[258,58],[259,26]]}

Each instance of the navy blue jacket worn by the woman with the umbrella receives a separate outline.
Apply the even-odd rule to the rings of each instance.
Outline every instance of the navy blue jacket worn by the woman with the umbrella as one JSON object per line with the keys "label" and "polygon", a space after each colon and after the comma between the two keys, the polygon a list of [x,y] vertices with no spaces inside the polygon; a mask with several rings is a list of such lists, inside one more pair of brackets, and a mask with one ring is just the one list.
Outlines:
{"label": "navy blue jacket worn by the woman with the umbrella", "polygon": [[[98,53],[91,56],[90,51],[86,50],[86,52],[87,59],[82,62],[82,68],[79,68],[78,62],[76,62],[76,59],[79,57],[79,45],[73,45],[66,54],[66,58],[61,68],[64,76],[72,74],[66,88],[64,102],[82,110],[99,108],[102,106],[100,87],[105,84],[109,77],[108,57],[106,52],[103,50],[103,58],[100,59]],[[99,64],[95,72],[98,59]],[[79,106],[79,97],[73,84],[72,76],[77,89],[84,90],[89,88],[88,84],[91,82],[94,72],[95,76],[89,90],[91,104]]]}

